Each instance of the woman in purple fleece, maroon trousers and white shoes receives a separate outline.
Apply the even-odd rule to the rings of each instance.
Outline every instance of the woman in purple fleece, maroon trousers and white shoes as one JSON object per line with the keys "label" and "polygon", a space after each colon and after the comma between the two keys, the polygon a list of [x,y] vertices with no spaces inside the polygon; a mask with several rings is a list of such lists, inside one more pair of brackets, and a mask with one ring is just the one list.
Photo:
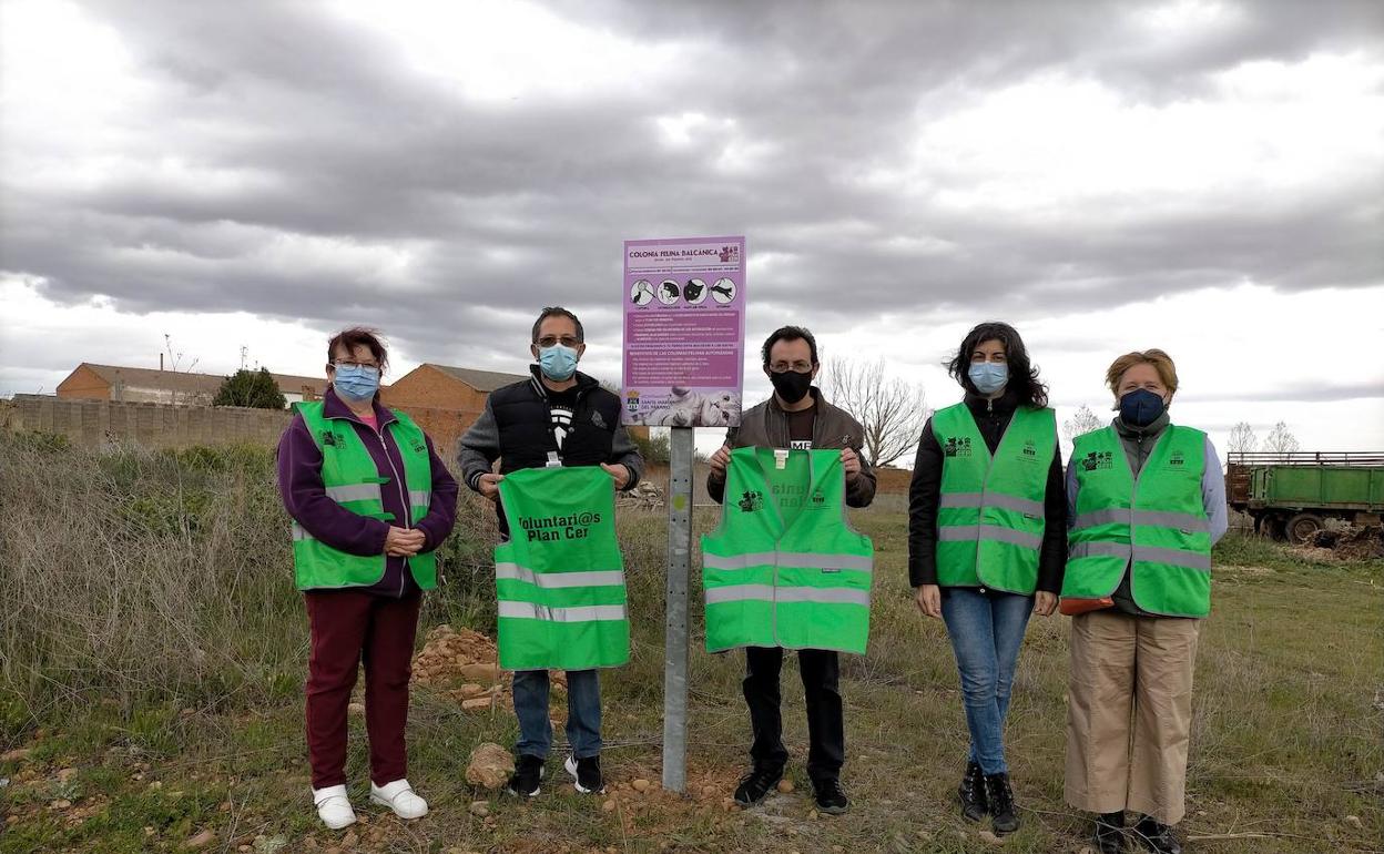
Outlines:
{"label": "woman in purple fleece, maroon trousers and white shoes", "polygon": [[408,678],[433,551],[451,532],[457,482],[432,440],[379,403],[389,354],[372,329],[327,345],[322,400],[295,404],[278,443],[278,484],[293,518],[293,574],[307,605],[307,756],[313,804],[332,829],[356,821],[346,794],[346,711],[365,666],[370,800],[400,818],[428,814],[406,779]]}

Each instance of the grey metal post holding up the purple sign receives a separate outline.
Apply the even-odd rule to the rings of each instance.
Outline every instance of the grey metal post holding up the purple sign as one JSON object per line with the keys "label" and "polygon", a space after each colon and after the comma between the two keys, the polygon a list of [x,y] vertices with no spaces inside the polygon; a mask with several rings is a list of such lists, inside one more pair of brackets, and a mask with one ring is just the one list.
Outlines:
{"label": "grey metal post holding up the purple sign", "polygon": [[688,573],[692,559],[693,428],[668,437],[668,581],[663,644],[663,788],[688,785]]}

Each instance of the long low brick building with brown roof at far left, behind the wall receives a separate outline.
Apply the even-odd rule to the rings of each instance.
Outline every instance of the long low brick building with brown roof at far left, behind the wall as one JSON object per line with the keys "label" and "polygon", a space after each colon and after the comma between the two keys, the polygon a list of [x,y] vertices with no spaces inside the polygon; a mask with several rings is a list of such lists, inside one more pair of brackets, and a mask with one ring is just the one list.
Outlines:
{"label": "long low brick building with brown roof at far left, behind the wall", "polygon": [[[327,390],[325,376],[273,374],[288,403],[318,400]],[[219,374],[188,374],[155,368],[98,365],[83,361],[58,383],[58,397],[112,400],[116,403],[166,403],[173,406],[210,406],[216,390],[226,382]]]}

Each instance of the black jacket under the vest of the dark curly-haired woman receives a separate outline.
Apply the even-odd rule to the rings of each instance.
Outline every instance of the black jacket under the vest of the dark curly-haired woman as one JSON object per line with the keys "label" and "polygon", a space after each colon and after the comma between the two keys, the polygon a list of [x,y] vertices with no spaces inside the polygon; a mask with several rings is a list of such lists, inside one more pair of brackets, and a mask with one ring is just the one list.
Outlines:
{"label": "black jacket under the vest of the dark curly-haired woman", "polygon": [[[985,439],[990,453],[999,447],[999,440],[1014,417],[1017,396],[1005,393],[999,400],[988,400],[966,394],[980,435]],[[918,457],[913,461],[913,480],[908,487],[908,583],[937,584],[937,505],[943,486],[943,448],[933,435],[933,419],[923,425],[918,442]],[[1038,590],[1062,591],[1062,576],[1067,566],[1067,494],[1062,476],[1062,451],[1053,453],[1048,469],[1048,486],[1044,490],[1044,534],[1038,555]]]}

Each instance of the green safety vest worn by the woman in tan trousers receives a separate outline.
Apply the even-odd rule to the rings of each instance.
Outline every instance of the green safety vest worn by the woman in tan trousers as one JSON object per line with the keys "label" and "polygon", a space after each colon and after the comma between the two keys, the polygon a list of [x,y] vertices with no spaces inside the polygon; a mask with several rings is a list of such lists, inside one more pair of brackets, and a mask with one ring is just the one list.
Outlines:
{"label": "green safety vest worn by the woman in tan trousers", "polygon": [[1063,597],[1110,597],[1131,569],[1129,591],[1149,613],[1211,613],[1205,442],[1201,430],[1168,425],[1135,478],[1113,426],[1077,437],[1071,464],[1080,491]]}

